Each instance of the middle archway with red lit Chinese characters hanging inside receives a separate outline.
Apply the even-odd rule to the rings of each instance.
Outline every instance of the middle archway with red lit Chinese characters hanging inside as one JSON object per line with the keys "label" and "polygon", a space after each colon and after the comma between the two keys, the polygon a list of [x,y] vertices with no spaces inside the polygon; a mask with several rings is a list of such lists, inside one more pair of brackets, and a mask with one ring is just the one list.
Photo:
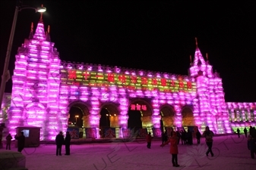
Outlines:
{"label": "middle archway with red lit Chinese characters hanging inside", "polygon": [[152,133],[152,110],[150,104],[145,100],[133,100],[128,110],[128,128],[147,128]]}

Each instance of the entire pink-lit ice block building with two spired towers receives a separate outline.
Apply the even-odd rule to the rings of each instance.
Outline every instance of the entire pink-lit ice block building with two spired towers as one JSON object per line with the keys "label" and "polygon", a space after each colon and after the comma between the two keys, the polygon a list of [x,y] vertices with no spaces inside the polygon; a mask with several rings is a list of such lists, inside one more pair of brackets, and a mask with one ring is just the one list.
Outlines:
{"label": "entire pink-lit ice block building with two spired towers", "polygon": [[[81,110],[84,131],[96,131],[101,138],[100,119],[115,130],[115,138],[124,138],[124,129],[134,119],[147,132],[170,127],[205,126],[216,134],[256,123],[256,103],[226,103],[222,79],[213,73],[196,48],[188,76],[155,73],[119,66],[62,61],[40,20],[29,39],[18,48],[12,93],[5,94],[2,122],[12,135],[21,125],[41,127],[41,140],[54,140],[58,131],[67,131],[70,110]],[[102,116],[101,110],[109,114]],[[139,116],[132,116],[139,113]],[[157,130],[158,129],[158,130]],[[90,134],[91,135],[91,134]]]}

